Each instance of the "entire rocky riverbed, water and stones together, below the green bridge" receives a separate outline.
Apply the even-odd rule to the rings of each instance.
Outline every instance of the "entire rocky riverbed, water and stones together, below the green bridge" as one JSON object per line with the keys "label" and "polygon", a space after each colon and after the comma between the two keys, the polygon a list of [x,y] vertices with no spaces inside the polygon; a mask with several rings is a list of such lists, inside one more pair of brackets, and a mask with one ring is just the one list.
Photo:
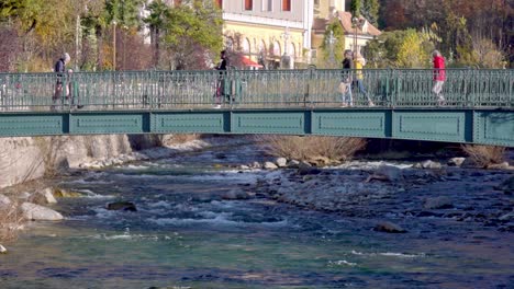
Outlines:
{"label": "entire rocky riverbed, water and stones together, below the green bridge", "polygon": [[63,220],[31,222],[9,243],[2,286],[514,284],[510,166],[465,169],[443,159],[314,166],[223,143],[121,155],[48,180],[53,189],[5,190]]}

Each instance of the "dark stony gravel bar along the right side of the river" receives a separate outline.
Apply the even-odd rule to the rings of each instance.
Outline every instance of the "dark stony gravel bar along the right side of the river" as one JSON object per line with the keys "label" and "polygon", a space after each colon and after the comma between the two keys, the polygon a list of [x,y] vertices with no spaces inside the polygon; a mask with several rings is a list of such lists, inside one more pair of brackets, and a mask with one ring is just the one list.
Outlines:
{"label": "dark stony gravel bar along the right side of the river", "polygon": [[306,209],[393,221],[405,230],[438,218],[514,232],[513,170],[416,167],[423,165],[362,161],[326,169],[300,165],[268,172],[249,190]]}

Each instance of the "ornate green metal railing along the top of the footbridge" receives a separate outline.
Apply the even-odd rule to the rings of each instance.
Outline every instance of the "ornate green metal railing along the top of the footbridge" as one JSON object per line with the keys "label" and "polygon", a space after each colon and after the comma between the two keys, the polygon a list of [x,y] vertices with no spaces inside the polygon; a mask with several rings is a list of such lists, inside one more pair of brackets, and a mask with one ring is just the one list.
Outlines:
{"label": "ornate green metal railing along the top of the footbridge", "polygon": [[[362,70],[354,106],[436,107],[432,69]],[[354,74],[355,71],[350,72]],[[0,111],[338,107],[342,70],[0,73]],[[514,108],[514,70],[446,69],[444,107]],[[60,81],[63,89],[56,90]]]}

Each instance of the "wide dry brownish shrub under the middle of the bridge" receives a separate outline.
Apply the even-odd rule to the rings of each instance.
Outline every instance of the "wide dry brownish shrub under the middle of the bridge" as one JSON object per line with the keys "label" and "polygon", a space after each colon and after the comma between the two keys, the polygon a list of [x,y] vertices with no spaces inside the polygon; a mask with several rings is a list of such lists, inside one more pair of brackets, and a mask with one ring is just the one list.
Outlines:
{"label": "wide dry brownish shrub under the middle of the bridge", "polygon": [[270,135],[260,136],[258,140],[266,146],[268,153],[299,161],[311,161],[320,157],[331,161],[345,161],[366,147],[365,139],[346,137]]}

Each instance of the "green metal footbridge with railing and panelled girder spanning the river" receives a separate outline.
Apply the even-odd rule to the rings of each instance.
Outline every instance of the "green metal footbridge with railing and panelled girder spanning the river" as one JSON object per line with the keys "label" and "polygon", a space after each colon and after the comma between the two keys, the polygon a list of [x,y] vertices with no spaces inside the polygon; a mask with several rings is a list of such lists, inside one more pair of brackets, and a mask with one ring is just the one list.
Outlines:
{"label": "green metal footbridge with railing and panelled girder spanning the river", "polygon": [[[361,74],[360,74],[361,72]],[[0,137],[282,134],[514,147],[514,70],[0,73]],[[339,85],[362,76],[343,106]],[[354,81],[354,84],[355,81]],[[346,85],[347,86],[347,85]],[[372,102],[372,103],[371,103]],[[343,106],[343,107],[342,107]]]}

